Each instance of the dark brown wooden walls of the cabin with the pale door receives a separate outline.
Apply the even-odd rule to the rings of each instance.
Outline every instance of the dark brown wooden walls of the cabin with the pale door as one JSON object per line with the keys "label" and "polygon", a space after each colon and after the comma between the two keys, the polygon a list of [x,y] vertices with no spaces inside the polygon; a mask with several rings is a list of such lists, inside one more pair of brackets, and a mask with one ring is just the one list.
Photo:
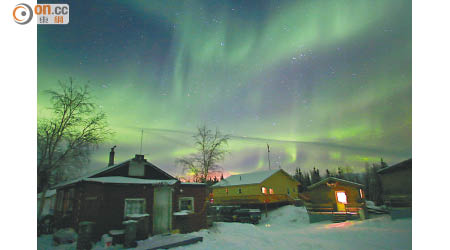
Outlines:
{"label": "dark brown wooden walls of the cabin with the pale door", "polygon": [[[82,182],[69,188],[60,189],[57,192],[64,194],[70,188],[76,190],[76,195],[73,204],[73,214],[70,218],[65,218],[67,225],[64,225],[64,227],[68,226],[78,230],[79,222],[92,221],[96,223],[95,236],[97,238],[111,229],[123,229],[125,199],[144,198],[146,199],[145,213],[150,215],[150,233],[153,233],[154,187],[152,185]],[[180,192],[180,188],[183,189],[183,192]],[[202,185],[183,185],[181,187],[180,184],[176,184],[172,193],[172,212],[179,211],[178,201],[181,197],[194,198],[195,213],[181,220],[173,216],[172,229],[182,228],[184,232],[192,232],[206,228],[207,187]],[[55,216],[62,218],[62,211],[55,210]]]}

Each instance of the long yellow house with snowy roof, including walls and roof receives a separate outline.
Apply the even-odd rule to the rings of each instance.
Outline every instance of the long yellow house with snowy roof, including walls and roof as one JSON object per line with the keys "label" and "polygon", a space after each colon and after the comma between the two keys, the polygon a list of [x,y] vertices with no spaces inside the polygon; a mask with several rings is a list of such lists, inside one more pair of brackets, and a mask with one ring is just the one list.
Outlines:
{"label": "long yellow house with snowy roof, including walls and roof", "polygon": [[214,204],[240,205],[293,202],[300,182],[282,169],[232,175],[214,184]]}

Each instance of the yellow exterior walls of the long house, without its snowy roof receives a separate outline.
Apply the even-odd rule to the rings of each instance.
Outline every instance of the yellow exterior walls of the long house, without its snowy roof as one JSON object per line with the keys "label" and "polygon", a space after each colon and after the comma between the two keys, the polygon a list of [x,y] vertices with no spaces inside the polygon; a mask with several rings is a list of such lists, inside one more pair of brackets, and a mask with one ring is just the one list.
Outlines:
{"label": "yellow exterior walls of the long house, without its snowy roof", "polygon": [[[214,203],[219,205],[238,205],[292,201],[298,198],[297,186],[299,184],[298,181],[279,171],[258,184],[213,187]],[[267,188],[267,195],[261,192],[262,187]],[[227,188],[228,194],[226,192]],[[274,194],[269,194],[269,188],[273,189]],[[288,188],[289,194],[287,191]],[[239,189],[241,189],[241,193],[239,193]]]}

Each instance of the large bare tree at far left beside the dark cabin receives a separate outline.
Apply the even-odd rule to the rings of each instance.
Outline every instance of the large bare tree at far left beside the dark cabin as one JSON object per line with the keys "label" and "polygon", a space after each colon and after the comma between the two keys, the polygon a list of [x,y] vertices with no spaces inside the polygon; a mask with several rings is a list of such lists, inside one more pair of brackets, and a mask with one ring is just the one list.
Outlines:
{"label": "large bare tree at far left beside the dark cabin", "polygon": [[52,103],[51,115],[38,119],[37,170],[38,187],[42,190],[38,218],[50,179],[70,163],[86,158],[92,147],[112,134],[105,113],[98,111],[87,86],[76,87],[69,78],[68,83],[59,81],[59,87],[59,90],[46,91]]}

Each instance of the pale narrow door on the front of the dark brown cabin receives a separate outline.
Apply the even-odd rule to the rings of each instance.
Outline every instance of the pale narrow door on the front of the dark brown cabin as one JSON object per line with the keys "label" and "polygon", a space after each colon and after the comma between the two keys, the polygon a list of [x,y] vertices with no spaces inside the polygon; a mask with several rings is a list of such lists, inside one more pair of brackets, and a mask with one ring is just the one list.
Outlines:
{"label": "pale narrow door on the front of the dark brown cabin", "polygon": [[153,234],[170,233],[171,227],[172,188],[156,187],[153,200]]}

